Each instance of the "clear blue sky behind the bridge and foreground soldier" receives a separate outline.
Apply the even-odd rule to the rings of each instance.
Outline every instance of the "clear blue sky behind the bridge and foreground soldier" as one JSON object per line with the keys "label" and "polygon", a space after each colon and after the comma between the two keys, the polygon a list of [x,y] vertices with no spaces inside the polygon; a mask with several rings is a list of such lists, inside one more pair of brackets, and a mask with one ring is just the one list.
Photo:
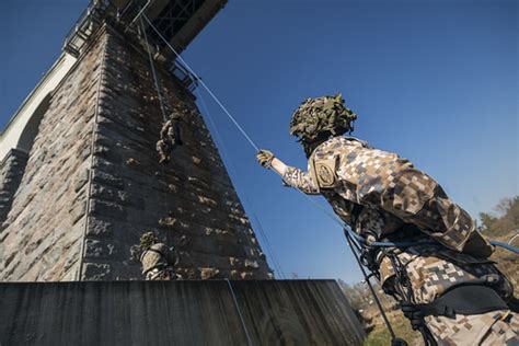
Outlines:
{"label": "clear blue sky behind the bridge and foreground soldier", "polygon": [[[85,4],[0,2],[0,127]],[[518,12],[517,1],[499,0],[231,0],[184,58],[260,147],[298,166],[307,163],[288,135],[292,111],[308,96],[343,92],[359,116],[355,136],[412,160],[476,217],[519,194]],[[287,276],[358,280],[341,229],[261,169],[203,99],[245,209],[268,235],[272,246],[260,240],[269,258],[272,247]]]}

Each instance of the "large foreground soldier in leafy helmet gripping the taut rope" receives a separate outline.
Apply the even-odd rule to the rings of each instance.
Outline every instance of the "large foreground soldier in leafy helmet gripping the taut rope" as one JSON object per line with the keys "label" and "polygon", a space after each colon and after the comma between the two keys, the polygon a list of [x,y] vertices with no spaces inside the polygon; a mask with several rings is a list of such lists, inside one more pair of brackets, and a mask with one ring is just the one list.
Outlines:
{"label": "large foreground soldier in leafy helmet gripping the taut rope", "polygon": [[[341,94],[308,99],[290,124],[309,159],[308,172],[285,165],[267,150],[257,160],[286,184],[323,195],[367,244],[414,242],[366,249],[370,269],[384,291],[402,302],[415,330],[427,326],[440,345],[519,343],[519,316],[504,301],[511,297],[511,285],[488,260],[493,246],[472,218],[408,160],[343,137],[355,119]],[[474,292],[484,296],[474,298]]]}

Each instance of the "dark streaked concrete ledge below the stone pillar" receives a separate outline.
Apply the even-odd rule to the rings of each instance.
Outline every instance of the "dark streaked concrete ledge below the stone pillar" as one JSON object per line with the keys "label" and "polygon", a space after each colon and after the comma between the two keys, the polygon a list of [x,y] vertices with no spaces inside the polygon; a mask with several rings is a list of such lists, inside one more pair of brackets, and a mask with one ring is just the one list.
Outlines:
{"label": "dark streaked concrete ledge below the stone pillar", "polygon": [[337,284],[0,284],[2,345],[361,345]]}

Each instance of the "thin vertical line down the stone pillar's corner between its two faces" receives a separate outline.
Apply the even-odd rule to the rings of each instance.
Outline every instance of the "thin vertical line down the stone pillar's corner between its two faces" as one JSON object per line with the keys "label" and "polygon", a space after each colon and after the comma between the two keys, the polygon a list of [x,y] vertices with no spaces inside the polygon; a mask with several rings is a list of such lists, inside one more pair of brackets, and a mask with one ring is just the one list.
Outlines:
{"label": "thin vertical line down the stone pillar's corner between its two faces", "polygon": [[89,181],[86,187],[86,208],[85,208],[85,219],[84,219],[84,230],[83,230],[83,239],[81,240],[81,253],[80,253],[80,261],[79,261],[79,272],[77,279],[81,281],[83,279],[83,261],[84,261],[84,251],[86,246],[86,232],[90,226],[90,209],[91,209],[91,198],[92,198],[92,181],[93,181],[93,168],[94,168],[94,151],[95,151],[95,140],[97,139],[97,118],[100,113],[100,100],[101,100],[101,86],[104,80],[104,72],[105,72],[105,61],[106,61],[106,47],[108,46],[109,36],[106,34],[106,41],[102,48],[101,53],[101,62],[100,62],[100,72],[99,72],[99,82],[97,89],[95,91],[95,105],[94,105],[94,118],[92,124],[92,140],[90,143],[90,166],[89,166]]}

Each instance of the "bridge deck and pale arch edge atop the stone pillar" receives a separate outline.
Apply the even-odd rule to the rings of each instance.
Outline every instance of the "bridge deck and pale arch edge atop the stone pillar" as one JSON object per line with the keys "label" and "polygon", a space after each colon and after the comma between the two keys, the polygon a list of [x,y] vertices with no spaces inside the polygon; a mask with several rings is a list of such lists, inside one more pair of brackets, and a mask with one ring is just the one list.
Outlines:
{"label": "bridge deck and pale arch edge atop the stone pillar", "polygon": [[[11,151],[18,151],[19,154],[27,154],[31,151],[50,94],[74,66],[90,37],[103,25],[106,18],[120,25],[128,25],[128,30],[135,30],[140,16],[146,13],[175,50],[182,53],[226,3],[227,0],[93,0],[67,34],[59,58],[1,130],[0,162],[5,161]],[[149,24],[145,25],[153,47],[159,47],[162,54],[160,59],[169,61],[171,73],[188,88],[194,88],[188,72],[164,49],[164,43],[148,27]]]}

